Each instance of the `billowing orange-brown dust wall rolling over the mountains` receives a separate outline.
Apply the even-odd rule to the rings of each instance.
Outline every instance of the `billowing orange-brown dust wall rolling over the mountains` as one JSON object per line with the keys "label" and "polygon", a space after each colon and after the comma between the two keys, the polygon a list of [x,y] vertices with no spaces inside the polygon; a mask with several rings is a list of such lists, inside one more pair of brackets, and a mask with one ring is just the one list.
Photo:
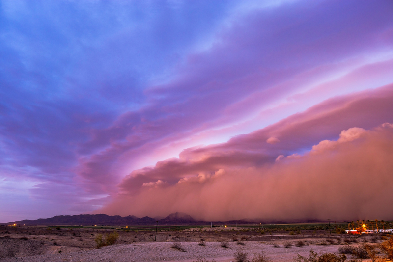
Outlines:
{"label": "billowing orange-brown dust wall rolling over the mountains", "polygon": [[227,168],[221,176],[184,179],[167,188],[119,195],[103,210],[136,215],[186,212],[198,219],[391,219],[393,129],[364,131],[321,154]]}

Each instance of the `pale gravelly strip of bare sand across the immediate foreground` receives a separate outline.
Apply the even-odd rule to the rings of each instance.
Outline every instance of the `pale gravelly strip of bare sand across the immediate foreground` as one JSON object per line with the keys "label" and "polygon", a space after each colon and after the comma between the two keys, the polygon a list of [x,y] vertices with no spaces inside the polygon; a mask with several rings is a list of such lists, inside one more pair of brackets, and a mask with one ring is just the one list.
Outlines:
{"label": "pale gravelly strip of bare sand across the immediate foreground", "polygon": [[[313,249],[318,253],[332,252],[337,253],[339,245],[316,246],[309,245],[304,247],[292,246],[284,248],[273,247],[270,243],[263,242],[247,242],[245,245],[237,245],[235,242],[228,243],[228,248],[221,247],[220,243],[208,242],[205,246],[199,246],[197,242],[180,242],[185,252],[172,248],[171,242],[149,242],[134,243],[107,246],[100,249],[80,250],[72,252],[62,252],[62,246],[56,246],[47,250],[48,254],[19,257],[4,258],[1,261],[26,261],[26,262],[64,262],[64,261],[80,261],[80,262],[128,262],[128,261],[196,261],[197,258],[206,258],[207,260],[216,260],[217,262],[235,261],[234,253],[238,250],[245,251],[250,258],[254,253],[265,251],[273,261],[286,262],[292,261],[296,254],[302,256],[309,255],[309,251]],[[50,254],[52,253],[52,254]]]}

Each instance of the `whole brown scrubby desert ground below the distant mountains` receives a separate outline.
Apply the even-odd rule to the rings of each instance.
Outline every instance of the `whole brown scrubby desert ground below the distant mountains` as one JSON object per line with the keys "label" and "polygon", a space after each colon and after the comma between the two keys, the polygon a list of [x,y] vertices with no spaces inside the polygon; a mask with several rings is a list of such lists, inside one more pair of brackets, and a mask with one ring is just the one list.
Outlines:
{"label": "whole brown scrubby desert ground below the distant mountains", "polygon": [[[172,227],[173,228],[173,227]],[[96,247],[99,234],[119,234],[114,245]],[[273,261],[293,261],[297,254],[308,257],[312,249],[318,254],[340,254],[340,247],[364,244],[377,247],[389,237],[383,234],[347,235],[329,230],[260,230],[258,228],[186,228],[154,230],[67,228],[67,227],[0,227],[0,261],[4,262],[128,262],[187,261],[198,259],[235,262],[235,252],[265,252]],[[105,237],[104,237],[105,239]],[[175,248],[174,246],[177,246]],[[378,248],[375,249],[377,253]],[[341,250],[342,251],[342,250]],[[347,259],[357,258],[346,254]],[[377,254],[383,256],[383,254]],[[371,259],[363,259],[371,261]]]}

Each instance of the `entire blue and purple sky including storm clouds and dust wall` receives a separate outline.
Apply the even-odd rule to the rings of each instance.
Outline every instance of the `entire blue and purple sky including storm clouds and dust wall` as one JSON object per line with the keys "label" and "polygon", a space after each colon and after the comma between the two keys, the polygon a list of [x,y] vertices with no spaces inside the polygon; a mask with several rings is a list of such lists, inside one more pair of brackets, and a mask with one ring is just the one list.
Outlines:
{"label": "entire blue and purple sky including storm clouds and dust wall", "polygon": [[0,222],[393,219],[391,0],[0,0],[0,25]]}

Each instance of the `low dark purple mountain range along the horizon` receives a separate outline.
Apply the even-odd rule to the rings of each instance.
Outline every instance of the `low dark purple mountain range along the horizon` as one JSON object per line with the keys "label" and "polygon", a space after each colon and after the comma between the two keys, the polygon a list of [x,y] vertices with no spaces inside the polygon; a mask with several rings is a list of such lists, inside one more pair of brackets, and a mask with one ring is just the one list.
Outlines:
{"label": "low dark purple mountain range along the horizon", "polygon": [[[174,214],[170,214],[165,218],[155,217],[151,218],[148,216],[138,218],[133,215],[121,217],[119,215],[109,216],[106,214],[97,214],[97,215],[57,215],[51,218],[40,218],[37,220],[21,220],[9,222],[9,224],[19,224],[19,225],[82,225],[82,226],[92,226],[92,225],[105,225],[105,226],[152,226],[156,225],[156,221],[158,221],[159,225],[208,225],[211,222],[216,225],[227,224],[227,225],[235,225],[235,224],[258,224],[258,223],[267,223],[262,220],[250,220],[250,219],[241,219],[241,220],[230,220],[230,221],[197,221],[192,218],[190,215],[176,212]],[[293,221],[295,222],[295,221]],[[306,221],[296,221],[296,223],[302,222],[319,222],[318,220],[306,220]],[[273,221],[268,222],[269,224],[282,224],[283,221]],[[288,223],[288,222],[287,222]]]}

